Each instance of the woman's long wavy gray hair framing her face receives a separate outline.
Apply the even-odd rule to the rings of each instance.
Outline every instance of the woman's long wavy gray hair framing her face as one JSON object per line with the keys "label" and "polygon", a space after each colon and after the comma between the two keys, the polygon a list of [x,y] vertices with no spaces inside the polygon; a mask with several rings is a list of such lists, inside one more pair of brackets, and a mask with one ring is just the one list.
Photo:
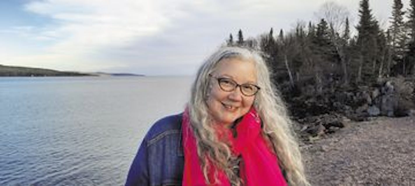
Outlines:
{"label": "woman's long wavy gray hair framing her face", "polygon": [[[242,61],[254,62],[256,67],[257,85],[261,90],[255,95],[254,107],[261,117],[262,134],[272,143],[280,166],[286,172],[290,186],[309,186],[304,173],[297,138],[291,128],[292,122],[288,117],[285,104],[274,89],[270,73],[259,52],[247,48],[221,47],[202,64],[191,88],[188,103],[190,126],[193,129],[199,160],[207,179],[207,159],[222,169],[232,185],[241,185],[242,180],[233,171],[232,157],[229,146],[220,141],[215,134],[214,123],[207,107],[207,97],[210,94],[209,74],[214,72],[220,61],[237,58]],[[217,180],[216,180],[217,181]]]}

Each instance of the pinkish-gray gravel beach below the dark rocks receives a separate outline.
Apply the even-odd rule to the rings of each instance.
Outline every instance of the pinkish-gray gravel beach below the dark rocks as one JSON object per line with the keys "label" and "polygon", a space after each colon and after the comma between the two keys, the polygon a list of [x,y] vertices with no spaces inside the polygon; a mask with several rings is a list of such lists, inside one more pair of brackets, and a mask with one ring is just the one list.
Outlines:
{"label": "pinkish-gray gravel beach below the dark rocks", "polygon": [[301,149],[313,186],[415,186],[415,117],[350,122]]}

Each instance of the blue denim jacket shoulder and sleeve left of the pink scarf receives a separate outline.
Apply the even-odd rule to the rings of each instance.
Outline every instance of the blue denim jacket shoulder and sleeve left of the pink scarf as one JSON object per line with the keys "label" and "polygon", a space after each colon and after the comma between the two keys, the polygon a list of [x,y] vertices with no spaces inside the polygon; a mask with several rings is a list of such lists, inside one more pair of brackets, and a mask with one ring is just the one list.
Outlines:
{"label": "blue denim jacket shoulder and sleeve left of the pink scarf", "polygon": [[183,177],[182,114],[157,121],[144,137],[125,186],[180,186]]}

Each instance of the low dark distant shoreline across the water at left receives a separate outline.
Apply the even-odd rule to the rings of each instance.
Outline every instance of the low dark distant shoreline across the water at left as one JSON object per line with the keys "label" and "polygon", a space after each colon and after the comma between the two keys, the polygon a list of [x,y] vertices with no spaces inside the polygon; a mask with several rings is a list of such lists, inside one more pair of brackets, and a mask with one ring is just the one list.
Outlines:
{"label": "low dark distant shoreline across the water at left", "polygon": [[0,64],[0,77],[47,77],[47,76],[144,76],[131,73],[106,73],[106,72],[66,72],[53,69],[6,66]]}

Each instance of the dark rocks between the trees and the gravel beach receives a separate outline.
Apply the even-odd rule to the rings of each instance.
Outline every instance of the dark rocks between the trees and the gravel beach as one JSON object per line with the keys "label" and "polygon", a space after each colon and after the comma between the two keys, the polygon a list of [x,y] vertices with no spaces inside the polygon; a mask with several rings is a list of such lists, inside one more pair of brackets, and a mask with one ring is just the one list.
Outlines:
{"label": "dark rocks between the trees and the gravel beach", "polygon": [[[391,78],[371,86],[328,86],[320,94],[308,85],[297,88],[297,96],[285,97],[300,124],[300,133],[320,136],[343,128],[348,119],[367,121],[371,117],[415,114],[414,88],[414,80]],[[287,94],[283,90],[283,95]]]}

